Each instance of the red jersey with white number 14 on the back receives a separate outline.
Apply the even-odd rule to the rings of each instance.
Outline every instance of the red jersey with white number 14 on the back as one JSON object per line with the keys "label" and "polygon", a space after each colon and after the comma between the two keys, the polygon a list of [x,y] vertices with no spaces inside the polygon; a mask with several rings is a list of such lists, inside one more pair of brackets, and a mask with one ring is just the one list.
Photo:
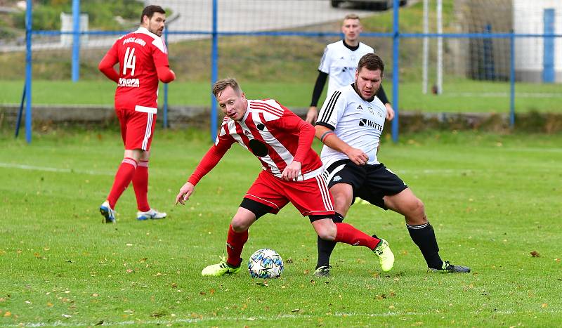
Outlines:
{"label": "red jersey with white number 14 on the back", "polygon": [[119,62],[116,108],[157,108],[157,68],[169,67],[168,50],[162,38],[139,27],[115,41],[104,60],[112,65]]}

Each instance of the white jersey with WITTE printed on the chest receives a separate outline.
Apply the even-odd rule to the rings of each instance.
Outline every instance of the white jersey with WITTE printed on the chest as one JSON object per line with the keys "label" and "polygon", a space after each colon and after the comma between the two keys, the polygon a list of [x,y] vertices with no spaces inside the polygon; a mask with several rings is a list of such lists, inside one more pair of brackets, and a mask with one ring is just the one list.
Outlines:
{"label": "white jersey with WITTE printed on the chest", "polygon": [[[318,113],[316,125],[332,129],[336,136],[353,148],[358,148],[369,157],[367,164],[379,164],[377,147],[381,138],[386,107],[374,97],[372,101],[363,100],[355,91],[355,84],[336,90],[327,98]],[[324,169],[347,155],[327,145],[320,153]]]}

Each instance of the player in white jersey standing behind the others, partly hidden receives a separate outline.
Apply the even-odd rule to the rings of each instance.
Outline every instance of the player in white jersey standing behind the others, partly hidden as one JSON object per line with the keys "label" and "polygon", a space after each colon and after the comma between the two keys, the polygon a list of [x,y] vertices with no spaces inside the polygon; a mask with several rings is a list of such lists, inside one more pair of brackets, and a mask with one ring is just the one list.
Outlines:
{"label": "player in white jersey standing behind the others, partly hidden", "polygon": [[[328,91],[326,93],[327,98],[329,98],[336,89],[353,83],[359,58],[366,53],[374,53],[373,48],[359,41],[362,27],[358,15],[346,15],[341,25],[341,32],[344,33],[344,39],[328,44],[324,49],[322,60],[320,60],[318,77],[316,78],[312,93],[311,107],[306,113],[306,122],[310,124],[314,124],[316,119],[318,119],[317,105],[326,84],[326,79],[329,77]],[[377,97],[384,103],[386,119],[390,121],[394,118],[394,110],[388,102],[383,88],[379,89]]]}

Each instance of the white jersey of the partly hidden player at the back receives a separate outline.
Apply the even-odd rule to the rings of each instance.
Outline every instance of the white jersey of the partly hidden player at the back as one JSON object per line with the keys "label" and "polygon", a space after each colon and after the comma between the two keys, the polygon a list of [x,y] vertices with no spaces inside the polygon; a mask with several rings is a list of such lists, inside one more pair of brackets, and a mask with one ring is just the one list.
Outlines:
{"label": "white jersey of the partly hidden player at the back", "polygon": [[359,60],[367,53],[374,53],[374,49],[362,42],[359,42],[359,48],[355,51],[346,47],[344,40],[326,46],[318,70],[329,75],[328,92],[326,93],[328,97],[337,89],[355,81],[355,71]]}

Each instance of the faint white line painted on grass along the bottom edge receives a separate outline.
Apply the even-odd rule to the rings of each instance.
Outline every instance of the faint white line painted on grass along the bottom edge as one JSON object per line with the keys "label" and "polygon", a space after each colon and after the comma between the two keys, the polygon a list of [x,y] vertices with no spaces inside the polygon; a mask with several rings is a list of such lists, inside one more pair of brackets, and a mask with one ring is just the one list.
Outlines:
{"label": "faint white line painted on grass along the bottom edge", "polygon": [[[483,311],[476,311],[469,314],[472,315],[480,315]],[[525,314],[524,312],[518,312],[514,310],[499,310],[493,311],[494,314],[499,315],[516,315],[516,314]],[[542,309],[539,314],[560,314],[562,313],[561,310],[546,310]],[[433,311],[426,311],[426,312],[405,312],[405,313],[397,313],[397,312],[386,312],[386,313],[334,313],[332,315],[325,315],[325,317],[419,317],[420,315],[437,315],[439,313]],[[442,313],[443,314],[443,313]],[[443,314],[444,315],[444,314]],[[211,321],[236,321],[236,320],[244,320],[244,321],[255,321],[255,320],[283,320],[283,319],[313,319],[317,316],[315,315],[293,315],[293,314],[285,314],[285,315],[272,315],[270,317],[203,317],[203,318],[176,318],[173,320],[128,320],[128,321],[120,321],[120,322],[103,322],[103,325],[117,325],[117,326],[129,326],[133,324],[174,324],[174,323],[195,323],[195,322],[211,322]],[[18,324],[0,324],[0,327],[76,327],[76,326],[92,326],[94,323],[83,323],[83,322],[62,322],[62,321],[55,321],[55,322],[21,322]]]}

